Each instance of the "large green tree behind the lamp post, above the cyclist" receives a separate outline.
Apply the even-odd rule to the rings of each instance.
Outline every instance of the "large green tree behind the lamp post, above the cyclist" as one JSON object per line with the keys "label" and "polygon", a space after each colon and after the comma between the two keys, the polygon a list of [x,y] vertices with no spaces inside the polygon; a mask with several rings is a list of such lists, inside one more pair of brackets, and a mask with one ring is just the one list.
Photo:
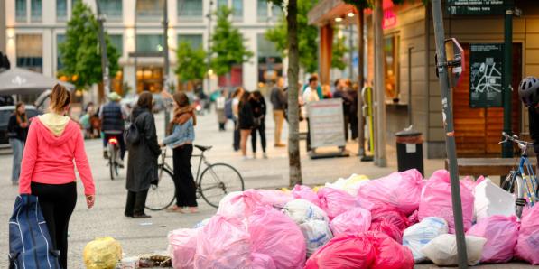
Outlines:
{"label": "large green tree behind the lamp post, above the cyclist", "polygon": [[[77,1],[66,31],[66,40],[60,44],[63,68],[60,74],[70,78],[77,88],[88,88],[103,80],[101,51],[98,41],[98,21],[89,6]],[[110,74],[118,70],[119,54],[105,33]]]}

